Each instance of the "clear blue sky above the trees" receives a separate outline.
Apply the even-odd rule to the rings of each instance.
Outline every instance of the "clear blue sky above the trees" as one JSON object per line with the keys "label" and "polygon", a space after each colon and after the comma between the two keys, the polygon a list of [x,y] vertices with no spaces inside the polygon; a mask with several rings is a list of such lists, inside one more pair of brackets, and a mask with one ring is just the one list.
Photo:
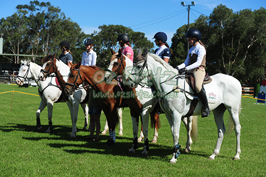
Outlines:
{"label": "clear blue sky above the trees", "polygon": [[[11,16],[16,12],[18,4],[29,4],[30,0],[0,0],[0,18]],[[168,44],[178,28],[188,24],[188,0],[39,0],[49,1],[51,5],[59,7],[61,12],[80,28],[90,34],[98,31],[100,25],[123,25],[135,32],[143,32],[152,39],[156,32],[168,35]],[[266,0],[195,0],[196,5],[190,8],[190,23],[201,14],[209,16],[213,9],[225,5],[234,12],[251,9],[252,11],[266,8]],[[4,36],[3,36],[4,38]]]}

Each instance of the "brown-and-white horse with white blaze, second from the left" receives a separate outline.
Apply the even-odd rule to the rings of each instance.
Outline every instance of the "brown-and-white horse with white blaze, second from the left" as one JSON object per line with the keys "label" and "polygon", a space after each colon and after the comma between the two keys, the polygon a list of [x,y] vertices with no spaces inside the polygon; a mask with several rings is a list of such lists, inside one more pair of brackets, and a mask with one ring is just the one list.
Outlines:
{"label": "brown-and-white horse with white blaze, second from the left", "polygon": [[[43,62],[43,69],[42,72],[39,73],[38,78],[40,80],[46,80],[46,77],[52,73],[56,74],[58,81],[61,87],[64,89],[65,83],[68,79],[68,74],[70,68],[64,64],[61,60],[56,59],[53,56],[49,55],[42,59]],[[76,137],[77,134],[77,118],[78,118],[78,105],[80,102],[84,101],[87,92],[84,88],[79,88],[75,90],[73,95],[66,96],[65,92],[63,92],[64,97],[66,98],[66,103],[71,113],[71,120],[72,120],[72,133],[71,137]],[[86,104],[87,106],[87,104]],[[122,110],[117,109],[117,115],[119,117],[120,127],[119,127],[119,135],[123,135],[123,126],[122,126]],[[108,127],[105,126],[105,130],[103,132],[108,131]]]}

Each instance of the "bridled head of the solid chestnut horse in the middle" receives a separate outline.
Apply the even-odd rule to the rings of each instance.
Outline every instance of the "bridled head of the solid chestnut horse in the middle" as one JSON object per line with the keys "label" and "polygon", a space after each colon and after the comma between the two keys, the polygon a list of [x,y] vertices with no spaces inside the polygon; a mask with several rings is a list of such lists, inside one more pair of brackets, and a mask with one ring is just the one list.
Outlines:
{"label": "bridled head of the solid chestnut horse in the middle", "polygon": [[80,75],[80,65],[81,62],[78,62],[78,64],[73,64],[70,68],[70,73],[64,88],[64,92],[67,96],[72,95],[75,89],[78,88],[78,85],[80,85],[84,80],[84,78]]}

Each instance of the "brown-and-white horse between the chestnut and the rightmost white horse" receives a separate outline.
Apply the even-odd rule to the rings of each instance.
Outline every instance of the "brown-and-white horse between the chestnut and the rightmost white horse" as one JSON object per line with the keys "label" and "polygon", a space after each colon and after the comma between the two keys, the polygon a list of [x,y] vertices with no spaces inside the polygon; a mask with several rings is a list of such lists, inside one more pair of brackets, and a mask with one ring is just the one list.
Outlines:
{"label": "brown-and-white horse between the chestnut and the rightmost white horse", "polygon": [[[132,124],[133,124],[133,145],[132,148],[129,150],[129,153],[135,153],[135,149],[138,148],[138,140],[139,142],[142,139],[142,136],[144,138],[144,147],[141,155],[148,155],[149,150],[149,142],[148,142],[148,124],[149,124],[149,114],[154,111],[154,108],[157,104],[155,99],[153,98],[153,93],[151,88],[147,87],[137,87],[137,88],[130,88],[128,86],[128,82],[126,81],[128,79],[128,74],[132,70],[133,63],[130,61],[128,57],[126,57],[124,54],[121,53],[121,50],[119,50],[119,53],[115,53],[113,50],[111,50],[112,57],[110,59],[110,65],[108,70],[112,71],[112,73],[115,77],[117,75],[122,75],[123,77],[123,83],[125,84],[125,89],[126,93],[125,95],[131,96],[132,93],[134,95],[136,94],[137,97],[128,97],[127,98],[127,103],[130,108],[130,114],[132,118]],[[108,75],[108,73],[107,73]],[[143,132],[141,131],[140,138],[138,139],[138,130],[139,130],[139,116],[142,118],[142,125],[143,125]],[[155,118],[159,118],[159,115],[153,115],[157,116]],[[191,117],[192,118],[192,117]],[[191,120],[191,118],[189,120]],[[152,119],[152,115],[151,115]],[[185,123],[185,126],[188,130],[188,143],[186,147],[186,151],[190,151],[190,145],[192,144],[192,139],[190,136],[190,132],[193,133],[194,136],[197,133],[197,117],[195,116],[195,119],[193,122],[189,123],[187,122],[187,119],[183,118],[183,122]],[[156,120],[155,120],[156,121]],[[193,130],[192,130],[192,123],[193,124]],[[154,137],[152,139],[152,143],[157,142],[158,138],[158,132],[157,128],[155,126],[155,132],[154,132]]]}

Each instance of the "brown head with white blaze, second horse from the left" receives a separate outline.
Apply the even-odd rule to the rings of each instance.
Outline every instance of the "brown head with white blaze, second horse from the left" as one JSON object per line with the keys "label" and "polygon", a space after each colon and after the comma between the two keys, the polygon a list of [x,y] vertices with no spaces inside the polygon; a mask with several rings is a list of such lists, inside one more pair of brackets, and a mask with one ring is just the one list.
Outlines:
{"label": "brown head with white blaze, second horse from the left", "polygon": [[47,55],[42,59],[43,68],[38,76],[40,80],[45,80],[50,74],[54,73],[56,70],[56,59],[55,54]]}

